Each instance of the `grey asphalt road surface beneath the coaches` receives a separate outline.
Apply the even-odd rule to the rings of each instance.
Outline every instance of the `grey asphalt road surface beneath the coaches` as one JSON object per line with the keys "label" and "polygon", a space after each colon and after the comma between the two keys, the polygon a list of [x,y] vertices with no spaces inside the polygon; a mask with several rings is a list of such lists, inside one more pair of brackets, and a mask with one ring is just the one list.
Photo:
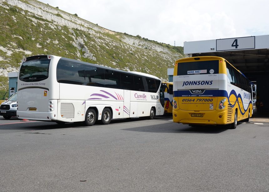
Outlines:
{"label": "grey asphalt road surface beneath the coaches", "polygon": [[269,123],[92,127],[0,116],[0,191],[269,191]]}

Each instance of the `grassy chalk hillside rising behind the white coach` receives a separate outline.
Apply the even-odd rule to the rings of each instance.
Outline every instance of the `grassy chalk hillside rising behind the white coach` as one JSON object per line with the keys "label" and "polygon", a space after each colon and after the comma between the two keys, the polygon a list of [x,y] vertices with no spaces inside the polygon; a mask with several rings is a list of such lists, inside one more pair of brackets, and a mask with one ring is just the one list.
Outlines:
{"label": "grassy chalk hillside rising behind the white coach", "polygon": [[18,71],[31,55],[63,56],[164,80],[183,55],[182,47],[113,32],[34,0],[0,1],[0,13],[0,90],[8,89],[7,73]]}

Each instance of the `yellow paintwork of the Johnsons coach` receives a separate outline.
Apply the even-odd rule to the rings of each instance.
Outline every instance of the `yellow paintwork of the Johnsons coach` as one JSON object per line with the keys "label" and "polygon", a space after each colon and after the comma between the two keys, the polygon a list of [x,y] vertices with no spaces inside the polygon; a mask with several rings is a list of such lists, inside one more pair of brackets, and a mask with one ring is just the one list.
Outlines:
{"label": "yellow paintwork of the Johnsons coach", "polygon": [[[195,58],[200,58],[200,60],[195,60]],[[209,60],[219,60],[219,74],[223,73],[227,75],[226,71],[226,60],[221,57],[214,57],[214,56],[203,56],[203,57],[190,57],[190,58],[182,58],[175,62],[174,67],[174,76],[177,76],[177,68],[178,63],[183,62],[194,62],[194,61],[209,61]],[[228,62],[227,62],[228,63]],[[236,69],[237,70],[237,69]],[[238,71],[238,70],[237,70]],[[239,71],[240,72],[240,71]],[[241,73],[241,72],[240,72]],[[252,109],[253,105],[249,104],[248,109],[246,110],[245,114],[240,113],[241,111],[245,111],[241,98],[238,98],[238,102],[236,102],[236,96],[231,95],[229,100],[230,104],[234,105],[232,107],[230,115],[228,114],[228,98],[226,98],[226,101],[224,102],[224,109],[219,109],[218,104],[222,99],[225,99],[225,97],[199,97],[199,99],[213,99],[212,102],[214,103],[215,109],[209,110],[209,102],[205,102],[206,104],[191,104],[187,102],[182,102],[183,99],[197,99],[197,97],[174,97],[173,98],[177,102],[177,108],[173,108],[173,121],[176,123],[182,123],[182,124],[211,124],[211,125],[217,125],[217,124],[231,124],[234,122],[234,116],[235,111],[237,111],[237,120],[243,120],[248,118],[248,112],[250,112],[250,117],[252,116]],[[187,107],[188,106],[188,107]],[[188,108],[194,109],[197,107],[197,110],[191,111],[186,110]],[[185,110],[183,110],[185,109]],[[191,117],[191,114],[203,114],[203,117]],[[229,116],[229,117],[228,117]],[[228,121],[228,119],[231,119],[231,121]]]}

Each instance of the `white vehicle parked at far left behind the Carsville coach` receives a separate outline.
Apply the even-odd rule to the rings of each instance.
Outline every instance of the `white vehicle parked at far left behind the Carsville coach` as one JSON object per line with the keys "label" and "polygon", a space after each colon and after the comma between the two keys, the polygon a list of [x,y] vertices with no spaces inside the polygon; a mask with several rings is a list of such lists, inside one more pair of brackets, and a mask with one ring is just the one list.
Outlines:
{"label": "white vehicle parked at far left behind the Carsville coach", "polygon": [[0,106],[0,115],[5,119],[10,119],[17,116],[17,93],[13,94],[7,101],[4,101]]}

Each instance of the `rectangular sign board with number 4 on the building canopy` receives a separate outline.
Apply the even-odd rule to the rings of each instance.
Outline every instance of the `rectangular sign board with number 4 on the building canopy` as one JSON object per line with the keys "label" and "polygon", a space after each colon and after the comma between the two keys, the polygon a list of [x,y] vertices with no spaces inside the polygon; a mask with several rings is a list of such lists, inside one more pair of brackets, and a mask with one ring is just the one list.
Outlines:
{"label": "rectangular sign board with number 4 on the building canopy", "polygon": [[255,49],[255,36],[216,39],[216,51]]}

